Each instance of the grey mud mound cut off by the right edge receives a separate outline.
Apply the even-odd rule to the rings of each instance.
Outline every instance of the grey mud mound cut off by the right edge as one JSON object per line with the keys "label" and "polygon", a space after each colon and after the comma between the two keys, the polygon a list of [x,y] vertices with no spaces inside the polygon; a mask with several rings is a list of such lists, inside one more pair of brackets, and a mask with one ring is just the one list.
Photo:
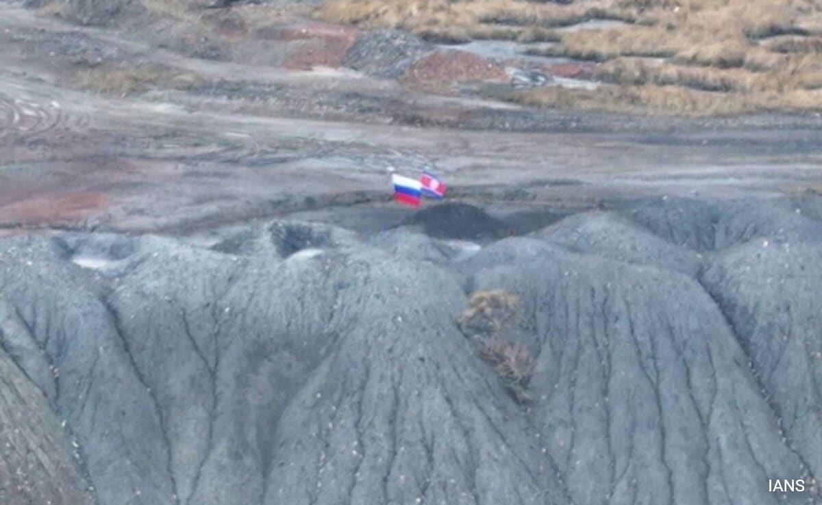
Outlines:
{"label": "grey mud mound cut off by the right edge", "polygon": [[720,255],[704,274],[741,337],[788,443],[814,475],[822,475],[820,252],[761,239]]}

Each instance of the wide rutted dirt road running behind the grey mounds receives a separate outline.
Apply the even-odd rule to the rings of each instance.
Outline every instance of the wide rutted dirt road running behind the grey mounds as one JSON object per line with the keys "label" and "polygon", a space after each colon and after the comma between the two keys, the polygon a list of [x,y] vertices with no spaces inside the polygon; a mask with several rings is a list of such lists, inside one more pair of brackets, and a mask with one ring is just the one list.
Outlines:
{"label": "wide rutted dirt road running behind the grey mounds", "polygon": [[[78,88],[78,70],[109,60],[173,67],[205,84],[123,96]],[[208,85],[233,91],[215,99],[204,94]],[[266,99],[243,96],[258,88],[269,90]],[[389,105],[376,114],[344,106],[328,119],[324,97],[340,96]],[[289,109],[291,99],[306,107]],[[423,126],[403,124],[394,114],[403,108],[416,118],[409,123]],[[535,113],[541,122],[520,128],[532,131],[505,131],[533,123]],[[483,115],[495,118],[492,129],[471,122]],[[446,127],[460,121],[464,128]],[[533,112],[404,90],[346,69],[202,59],[0,2],[5,230],[171,231],[306,210],[322,216],[318,209],[330,208],[331,215],[338,207],[385,204],[389,167],[410,174],[434,168],[452,198],[502,207],[791,193],[822,180],[820,140],[814,118],[695,122]]]}

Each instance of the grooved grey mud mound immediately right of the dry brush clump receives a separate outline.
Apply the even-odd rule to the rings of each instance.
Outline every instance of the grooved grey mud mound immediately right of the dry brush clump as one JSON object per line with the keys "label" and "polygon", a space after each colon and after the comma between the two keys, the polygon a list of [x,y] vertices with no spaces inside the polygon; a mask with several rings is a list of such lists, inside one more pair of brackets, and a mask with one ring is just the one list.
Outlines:
{"label": "grooved grey mud mound immediately right of the dry brush clump", "polygon": [[808,474],[693,279],[520,238],[471,262],[526,301],[529,417],[575,503],[777,503],[768,475]]}

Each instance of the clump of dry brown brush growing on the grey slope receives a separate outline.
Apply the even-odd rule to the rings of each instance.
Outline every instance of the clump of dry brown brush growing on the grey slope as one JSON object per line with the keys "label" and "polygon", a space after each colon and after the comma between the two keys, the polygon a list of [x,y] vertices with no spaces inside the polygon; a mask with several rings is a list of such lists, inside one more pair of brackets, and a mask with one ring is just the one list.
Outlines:
{"label": "clump of dry brown brush growing on the grey slope", "polygon": [[506,391],[522,403],[531,399],[528,385],[537,363],[527,347],[501,337],[515,319],[519,305],[520,298],[510,292],[475,292],[457,322],[462,332],[472,339],[478,356],[494,367]]}

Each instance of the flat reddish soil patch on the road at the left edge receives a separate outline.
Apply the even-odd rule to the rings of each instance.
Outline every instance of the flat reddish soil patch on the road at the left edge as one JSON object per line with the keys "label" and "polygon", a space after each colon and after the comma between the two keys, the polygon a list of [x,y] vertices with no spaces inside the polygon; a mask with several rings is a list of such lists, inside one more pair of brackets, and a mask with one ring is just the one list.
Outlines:
{"label": "flat reddish soil patch on the road at the left edge", "polygon": [[3,205],[0,222],[15,226],[76,223],[108,204],[109,198],[102,193],[44,193]]}

